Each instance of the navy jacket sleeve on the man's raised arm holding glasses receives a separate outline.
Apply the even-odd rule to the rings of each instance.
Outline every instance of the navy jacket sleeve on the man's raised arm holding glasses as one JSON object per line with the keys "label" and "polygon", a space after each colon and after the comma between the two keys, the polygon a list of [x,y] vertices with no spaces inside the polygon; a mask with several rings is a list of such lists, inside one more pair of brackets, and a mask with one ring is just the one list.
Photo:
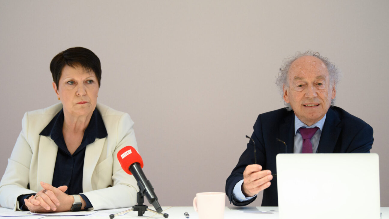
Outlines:
{"label": "navy jacket sleeve on the man's raised arm holding glasses", "polygon": [[[251,138],[255,142],[257,164],[261,165],[263,169],[265,169],[266,155],[265,148],[263,147],[264,141],[261,128],[261,115],[258,116],[258,119],[254,124],[254,132],[252,133]],[[256,197],[253,197],[250,200],[238,202],[238,200],[235,200],[233,198],[233,189],[235,185],[243,179],[243,172],[245,168],[247,167],[247,165],[254,163],[254,144],[250,140],[249,143],[247,143],[246,150],[240,156],[237,166],[235,166],[226,181],[226,194],[228,196],[228,199],[230,200],[230,203],[232,202],[236,206],[244,206],[248,205],[251,202],[254,202],[254,200],[256,199]]]}

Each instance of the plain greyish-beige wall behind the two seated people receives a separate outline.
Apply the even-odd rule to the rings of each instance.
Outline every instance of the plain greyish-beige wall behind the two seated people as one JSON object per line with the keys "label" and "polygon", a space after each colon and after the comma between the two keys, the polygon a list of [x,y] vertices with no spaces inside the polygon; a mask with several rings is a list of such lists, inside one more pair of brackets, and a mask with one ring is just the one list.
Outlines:
{"label": "plain greyish-beige wall behind the two seated people", "polygon": [[190,206],[197,192],[224,191],[258,114],[283,107],[282,60],[312,49],[343,72],[336,105],[374,128],[389,207],[388,9],[387,0],[0,0],[0,173],[23,113],[58,102],[51,59],[82,46],[102,62],[98,101],[135,121],[161,205]]}

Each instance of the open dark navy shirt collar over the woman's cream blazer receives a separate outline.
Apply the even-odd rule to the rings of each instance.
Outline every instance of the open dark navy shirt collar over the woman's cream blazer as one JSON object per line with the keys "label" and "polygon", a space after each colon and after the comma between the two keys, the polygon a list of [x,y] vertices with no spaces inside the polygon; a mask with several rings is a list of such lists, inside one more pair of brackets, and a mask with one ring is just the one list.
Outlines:
{"label": "open dark navy shirt collar over the woman's cream blazer", "polygon": [[[58,112],[54,118],[49,122],[49,124],[39,133],[39,135],[43,136],[51,136],[51,139],[62,137],[62,126],[63,126],[63,109]],[[107,129],[105,129],[105,125],[103,122],[103,118],[101,117],[98,110],[95,108],[93,114],[91,116],[91,121],[89,121],[88,127],[85,129],[84,138],[89,138],[92,142],[95,141],[95,138],[105,138],[107,137]]]}

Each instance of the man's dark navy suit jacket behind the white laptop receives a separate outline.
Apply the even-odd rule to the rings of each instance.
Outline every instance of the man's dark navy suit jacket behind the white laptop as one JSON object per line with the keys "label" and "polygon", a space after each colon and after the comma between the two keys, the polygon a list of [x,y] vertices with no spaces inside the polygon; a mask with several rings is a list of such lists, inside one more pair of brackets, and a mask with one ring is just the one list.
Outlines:
{"label": "man's dark navy suit jacket behind the white laptop", "polygon": [[[285,108],[266,112],[258,116],[251,138],[256,145],[256,157],[263,169],[277,173],[275,156],[278,153],[293,153],[294,147],[294,112]],[[284,143],[276,140],[285,141]],[[317,153],[369,153],[373,144],[373,128],[361,119],[352,116],[339,107],[330,107],[324,122]],[[237,206],[248,205],[237,202],[232,197],[236,183],[243,179],[243,171],[249,164],[254,164],[254,148],[250,141],[239,158],[237,166],[226,181],[226,194],[230,202]],[[262,206],[278,206],[277,177],[271,181],[269,188],[263,191]]]}

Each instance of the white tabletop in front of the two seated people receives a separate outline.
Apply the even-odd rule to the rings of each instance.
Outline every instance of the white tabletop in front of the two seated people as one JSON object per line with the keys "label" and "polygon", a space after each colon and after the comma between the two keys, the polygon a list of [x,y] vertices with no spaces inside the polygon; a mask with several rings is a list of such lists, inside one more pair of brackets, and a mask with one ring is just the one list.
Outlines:
{"label": "white tabletop in front of the two seated people", "polygon": [[[1,208],[3,209],[3,208]],[[1,210],[0,209],[0,210]],[[150,207],[150,209],[153,209]],[[192,206],[187,207],[162,207],[163,213],[168,213],[170,219],[186,219],[184,212],[189,213],[189,219],[198,219],[198,214],[195,212]],[[8,209],[7,209],[8,210]],[[11,209],[9,209],[11,210]],[[117,212],[117,210],[105,210],[106,214],[109,215],[110,212]],[[16,212],[20,216],[25,216],[28,212]],[[381,207],[382,219],[389,219],[389,207]],[[73,219],[80,217],[85,217],[85,219],[109,219],[109,216],[49,216],[46,219]],[[21,219],[22,217],[13,217],[14,219]],[[33,219],[34,216],[26,216],[23,219]],[[145,212],[142,217],[138,217],[137,212],[128,212],[124,216],[116,216],[115,219],[128,219],[128,218],[144,218],[144,219],[163,219],[163,216],[154,214],[152,212]],[[224,211],[224,219],[278,219],[278,207],[226,207]],[[1,219],[1,218],[0,218]],[[12,217],[3,217],[2,219],[12,219]]]}

